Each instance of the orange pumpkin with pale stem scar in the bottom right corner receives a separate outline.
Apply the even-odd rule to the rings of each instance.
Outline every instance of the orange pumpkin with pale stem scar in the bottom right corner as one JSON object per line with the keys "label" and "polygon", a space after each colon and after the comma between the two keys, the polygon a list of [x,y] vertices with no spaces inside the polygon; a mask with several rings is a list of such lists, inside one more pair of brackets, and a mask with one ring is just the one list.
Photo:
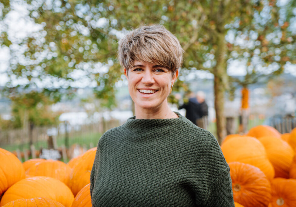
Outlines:
{"label": "orange pumpkin with pale stem scar in the bottom right corner", "polygon": [[275,178],[271,181],[271,206],[296,206],[296,180]]}

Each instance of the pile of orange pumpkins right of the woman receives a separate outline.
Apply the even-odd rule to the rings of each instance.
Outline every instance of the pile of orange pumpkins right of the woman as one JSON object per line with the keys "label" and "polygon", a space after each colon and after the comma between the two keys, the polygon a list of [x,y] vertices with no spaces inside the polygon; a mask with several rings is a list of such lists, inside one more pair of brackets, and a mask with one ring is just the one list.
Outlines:
{"label": "pile of orange pumpkins right of the woman", "polygon": [[296,206],[296,128],[281,134],[259,125],[246,135],[226,136],[221,150],[236,206]]}

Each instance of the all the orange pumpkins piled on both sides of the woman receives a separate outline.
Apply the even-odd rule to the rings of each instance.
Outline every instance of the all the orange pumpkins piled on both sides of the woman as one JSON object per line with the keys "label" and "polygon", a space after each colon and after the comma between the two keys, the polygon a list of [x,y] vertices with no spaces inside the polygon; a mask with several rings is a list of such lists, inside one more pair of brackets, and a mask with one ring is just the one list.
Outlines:
{"label": "all the orange pumpkins piled on both sides of the woman", "polygon": [[[228,135],[221,144],[230,166],[235,206],[296,206],[296,128],[280,134],[256,126]],[[96,148],[61,161],[21,163],[0,148],[0,206],[91,207],[90,172]]]}

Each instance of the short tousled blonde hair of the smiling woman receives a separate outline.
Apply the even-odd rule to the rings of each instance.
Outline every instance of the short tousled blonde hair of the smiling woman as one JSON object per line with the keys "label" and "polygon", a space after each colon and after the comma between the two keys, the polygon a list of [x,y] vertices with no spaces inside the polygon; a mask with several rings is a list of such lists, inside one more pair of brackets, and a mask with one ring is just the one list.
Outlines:
{"label": "short tousled blonde hair of the smiling woman", "polygon": [[163,25],[142,26],[130,31],[118,45],[120,65],[127,69],[134,61],[168,68],[173,74],[181,67],[183,49],[179,40]]}

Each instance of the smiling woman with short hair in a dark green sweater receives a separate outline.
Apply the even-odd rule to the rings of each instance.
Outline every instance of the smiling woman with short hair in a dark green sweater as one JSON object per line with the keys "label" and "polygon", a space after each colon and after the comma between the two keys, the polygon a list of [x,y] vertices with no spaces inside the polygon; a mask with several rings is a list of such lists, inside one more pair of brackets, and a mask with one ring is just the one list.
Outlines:
{"label": "smiling woman with short hair in a dark green sweater", "polygon": [[93,206],[234,206],[229,166],[213,135],[167,103],[183,50],[161,25],[119,41],[136,116],[98,142]]}

